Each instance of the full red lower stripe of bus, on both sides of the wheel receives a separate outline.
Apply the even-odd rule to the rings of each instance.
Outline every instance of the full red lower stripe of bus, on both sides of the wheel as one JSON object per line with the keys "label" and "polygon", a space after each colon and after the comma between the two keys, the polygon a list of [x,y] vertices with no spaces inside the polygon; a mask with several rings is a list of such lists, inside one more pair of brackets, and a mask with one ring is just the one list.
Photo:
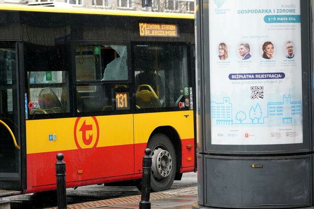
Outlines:
{"label": "full red lower stripe of bus, on both sides of the wheel", "polygon": [[[187,144],[194,144],[194,139],[181,140],[181,172],[194,170],[194,147],[186,148]],[[146,146],[147,143],[139,143],[27,154],[26,193],[56,189],[58,153],[64,154],[67,188],[141,178]]]}

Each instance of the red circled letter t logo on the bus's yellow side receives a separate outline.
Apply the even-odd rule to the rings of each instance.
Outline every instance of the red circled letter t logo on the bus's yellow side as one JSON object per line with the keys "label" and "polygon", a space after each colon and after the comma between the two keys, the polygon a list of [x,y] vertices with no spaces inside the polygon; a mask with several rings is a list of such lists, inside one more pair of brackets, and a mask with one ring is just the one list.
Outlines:
{"label": "red circled letter t logo on the bus's yellow side", "polygon": [[74,140],[79,149],[94,148],[99,140],[99,124],[96,117],[77,118],[74,125]]}

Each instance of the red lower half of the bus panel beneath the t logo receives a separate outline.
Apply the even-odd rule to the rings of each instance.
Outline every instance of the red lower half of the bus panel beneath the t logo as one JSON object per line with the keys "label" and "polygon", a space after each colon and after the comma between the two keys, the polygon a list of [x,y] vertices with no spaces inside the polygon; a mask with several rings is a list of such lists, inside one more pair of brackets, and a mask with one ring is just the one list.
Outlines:
{"label": "red lower half of the bus panel beneath the t logo", "polygon": [[66,182],[134,174],[133,149],[130,144],[27,154],[27,187],[56,184],[57,153],[64,154]]}

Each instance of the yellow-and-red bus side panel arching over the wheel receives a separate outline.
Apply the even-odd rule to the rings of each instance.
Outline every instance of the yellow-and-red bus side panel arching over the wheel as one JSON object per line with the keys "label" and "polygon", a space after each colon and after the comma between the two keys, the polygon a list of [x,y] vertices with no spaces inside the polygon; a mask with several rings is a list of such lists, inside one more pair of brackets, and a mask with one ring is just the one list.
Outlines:
{"label": "yellow-and-red bus side panel arching over the wheel", "polygon": [[[185,115],[188,115],[187,117]],[[162,113],[144,113],[134,115],[134,144],[135,144],[135,171],[142,169],[142,156],[148,139],[155,128],[159,126],[173,127],[181,141],[182,168],[194,169],[194,147],[187,148],[187,144],[194,146],[194,120],[193,111],[176,111]],[[176,148],[176,147],[175,147]],[[187,161],[191,158],[191,161]],[[183,170],[181,170],[183,171]]]}

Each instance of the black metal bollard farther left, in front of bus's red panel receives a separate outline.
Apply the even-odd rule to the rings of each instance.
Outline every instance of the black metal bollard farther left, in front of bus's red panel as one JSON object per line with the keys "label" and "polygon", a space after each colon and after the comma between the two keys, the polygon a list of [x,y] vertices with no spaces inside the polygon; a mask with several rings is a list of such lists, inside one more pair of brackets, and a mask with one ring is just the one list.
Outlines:
{"label": "black metal bollard farther left, in front of bus's red panel", "polygon": [[56,165],[57,176],[57,201],[58,209],[66,209],[66,187],[65,187],[65,162],[62,161],[64,155],[62,153],[57,154],[58,162]]}

